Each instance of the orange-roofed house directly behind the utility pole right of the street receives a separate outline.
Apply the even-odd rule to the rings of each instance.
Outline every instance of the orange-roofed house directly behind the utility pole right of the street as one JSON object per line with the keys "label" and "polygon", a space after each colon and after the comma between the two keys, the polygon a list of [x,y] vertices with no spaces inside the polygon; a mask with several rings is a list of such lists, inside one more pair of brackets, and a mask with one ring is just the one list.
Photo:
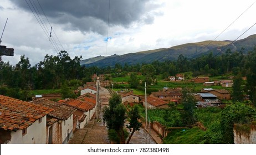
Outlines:
{"label": "orange-roofed house directly behind the utility pole right of the street", "polygon": [[[146,106],[145,99],[142,99],[143,106]],[[147,96],[147,108],[168,108],[168,102]]]}

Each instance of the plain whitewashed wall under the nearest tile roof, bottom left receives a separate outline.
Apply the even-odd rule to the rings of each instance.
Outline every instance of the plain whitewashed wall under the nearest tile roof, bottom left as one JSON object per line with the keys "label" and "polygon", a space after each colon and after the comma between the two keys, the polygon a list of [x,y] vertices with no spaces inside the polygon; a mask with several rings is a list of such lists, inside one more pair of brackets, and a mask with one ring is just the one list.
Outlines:
{"label": "plain whitewashed wall under the nearest tile roof, bottom left", "polygon": [[46,133],[46,115],[42,117],[42,122],[35,121],[27,128],[27,133],[22,135],[22,130],[12,131],[12,139],[9,144],[45,144],[47,139]]}

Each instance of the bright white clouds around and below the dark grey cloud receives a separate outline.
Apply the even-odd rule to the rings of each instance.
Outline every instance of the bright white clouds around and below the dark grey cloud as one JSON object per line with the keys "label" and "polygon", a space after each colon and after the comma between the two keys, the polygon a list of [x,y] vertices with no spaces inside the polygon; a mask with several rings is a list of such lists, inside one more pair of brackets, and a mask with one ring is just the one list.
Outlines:
{"label": "bright white clouds around and below the dark grey cloud", "polygon": [[[122,55],[142,50],[169,48],[179,44],[212,40],[238,18],[253,2],[254,0],[151,1],[146,3],[147,6],[144,6],[145,12],[140,12],[140,18],[134,13],[131,14],[131,16],[140,20],[129,19],[131,23],[126,26],[110,23],[108,36],[105,33],[96,32],[97,29],[104,28],[105,31],[107,30],[106,23],[104,25],[103,22],[105,19],[96,19],[101,22],[94,23],[92,20],[85,19],[84,17],[80,19],[76,17],[76,20],[70,20],[76,23],[83,23],[84,27],[89,27],[90,24],[95,25],[95,23],[102,24],[89,31],[81,31],[79,29],[81,25],[75,27],[74,23],[52,23],[54,17],[49,18],[49,20],[60,43],[69,52],[71,58],[74,58],[76,55],[82,55],[83,59],[88,59],[98,55]],[[154,8],[154,6],[157,7]],[[216,40],[236,39],[256,22],[255,14],[256,4],[250,7]],[[42,61],[46,54],[57,55],[57,52],[49,42],[49,32],[47,34],[43,32],[31,12],[25,12],[23,9],[14,6],[10,0],[1,0],[0,18],[1,32],[5,19],[8,18],[2,44],[7,45],[8,48],[14,48],[14,56],[2,56],[3,61],[10,61],[11,64],[15,65],[18,63],[19,57],[25,54],[33,66]],[[66,18],[71,17],[66,16]],[[116,19],[116,21],[120,22],[121,19]],[[47,29],[50,29],[49,25]],[[245,33],[240,39],[255,34],[255,32],[256,26]],[[111,37],[107,44],[104,41],[106,37]],[[53,38],[59,48],[62,49],[54,34]]]}

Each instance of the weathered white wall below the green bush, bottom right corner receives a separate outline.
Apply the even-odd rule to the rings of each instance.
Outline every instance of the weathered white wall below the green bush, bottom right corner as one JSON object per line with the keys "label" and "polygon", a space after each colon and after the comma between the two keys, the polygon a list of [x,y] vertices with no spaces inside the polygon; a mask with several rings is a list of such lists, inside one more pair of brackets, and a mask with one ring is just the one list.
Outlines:
{"label": "weathered white wall below the green bush, bottom right corner", "polygon": [[250,125],[249,131],[238,130],[238,124],[234,125],[234,143],[235,144],[256,144],[256,125]]}

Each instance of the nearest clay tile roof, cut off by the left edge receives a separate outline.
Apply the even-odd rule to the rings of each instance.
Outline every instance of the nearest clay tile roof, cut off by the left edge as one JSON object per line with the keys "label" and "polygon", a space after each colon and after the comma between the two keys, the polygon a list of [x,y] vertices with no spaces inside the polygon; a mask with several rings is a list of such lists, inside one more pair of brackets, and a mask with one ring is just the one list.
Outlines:
{"label": "nearest clay tile roof, cut off by the left edge", "polygon": [[52,111],[49,107],[0,95],[0,128],[22,130]]}

